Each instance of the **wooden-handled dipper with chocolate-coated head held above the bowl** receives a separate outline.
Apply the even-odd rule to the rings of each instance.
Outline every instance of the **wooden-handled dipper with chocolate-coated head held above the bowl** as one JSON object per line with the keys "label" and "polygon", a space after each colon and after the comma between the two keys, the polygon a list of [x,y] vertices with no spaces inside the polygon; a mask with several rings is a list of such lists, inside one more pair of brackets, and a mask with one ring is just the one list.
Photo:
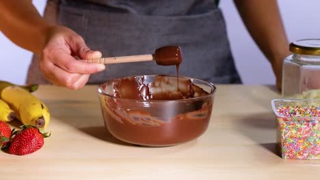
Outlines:
{"label": "wooden-handled dipper with chocolate-coated head held above the bowl", "polygon": [[158,65],[179,65],[182,61],[179,46],[163,46],[155,50],[154,55],[134,55],[123,57],[102,57],[99,59],[81,59],[86,63],[131,63],[139,61],[156,61]]}

